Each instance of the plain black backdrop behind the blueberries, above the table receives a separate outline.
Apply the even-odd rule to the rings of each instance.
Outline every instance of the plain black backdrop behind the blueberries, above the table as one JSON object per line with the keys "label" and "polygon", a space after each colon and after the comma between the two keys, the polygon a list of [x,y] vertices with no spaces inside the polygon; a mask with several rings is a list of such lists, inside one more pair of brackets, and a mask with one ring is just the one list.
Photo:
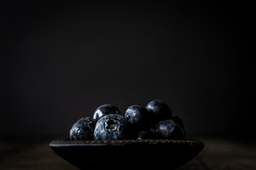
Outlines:
{"label": "plain black backdrop behind the blueberries, above the table", "polygon": [[0,137],[66,137],[105,103],[159,98],[191,137],[253,137],[243,6],[1,2]]}

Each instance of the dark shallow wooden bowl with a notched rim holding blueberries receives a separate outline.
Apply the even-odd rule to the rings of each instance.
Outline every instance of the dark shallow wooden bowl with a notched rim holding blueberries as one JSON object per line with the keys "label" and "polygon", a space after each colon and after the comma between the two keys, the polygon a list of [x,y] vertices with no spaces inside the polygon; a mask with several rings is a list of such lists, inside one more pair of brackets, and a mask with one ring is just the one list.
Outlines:
{"label": "dark shallow wooden bowl with a notched rim holding blueberries", "polygon": [[50,148],[79,169],[178,169],[201,152],[200,140],[53,140]]}

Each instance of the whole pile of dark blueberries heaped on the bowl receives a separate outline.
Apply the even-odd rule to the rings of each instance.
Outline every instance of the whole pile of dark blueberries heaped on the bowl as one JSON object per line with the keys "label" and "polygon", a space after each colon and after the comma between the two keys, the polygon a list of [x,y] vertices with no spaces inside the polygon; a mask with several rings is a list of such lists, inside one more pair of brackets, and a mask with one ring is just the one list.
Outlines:
{"label": "whole pile of dark blueberries heaped on the bowl", "polygon": [[116,106],[98,107],[93,117],[78,120],[70,129],[70,140],[185,139],[183,121],[161,100],[146,106],[129,106],[125,114]]}

